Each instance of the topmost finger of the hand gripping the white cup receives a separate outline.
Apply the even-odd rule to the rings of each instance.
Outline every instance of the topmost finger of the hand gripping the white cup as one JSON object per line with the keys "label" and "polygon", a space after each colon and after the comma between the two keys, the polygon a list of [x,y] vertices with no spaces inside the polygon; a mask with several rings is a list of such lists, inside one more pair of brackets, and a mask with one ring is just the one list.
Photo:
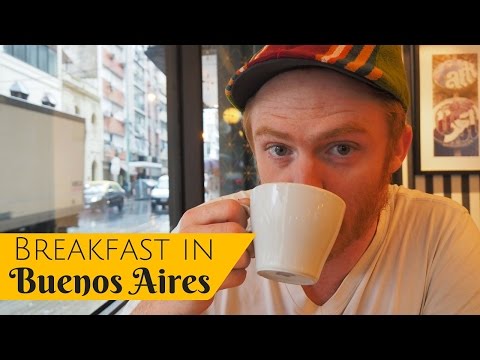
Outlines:
{"label": "topmost finger of the hand gripping the white cup", "polygon": [[242,205],[233,199],[212,201],[189,209],[181,220],[182,227],[207,225],[214,223],[235,222],[247,226],[248,215]]}

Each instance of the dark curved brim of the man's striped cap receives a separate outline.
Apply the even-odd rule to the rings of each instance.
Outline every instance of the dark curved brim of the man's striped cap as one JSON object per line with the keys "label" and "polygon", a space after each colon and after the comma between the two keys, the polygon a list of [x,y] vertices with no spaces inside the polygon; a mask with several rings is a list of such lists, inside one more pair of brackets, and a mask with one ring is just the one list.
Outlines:
{"label": "dark curved brim of the man's striped cap", "polygon": [[233,100],[233,104],[239,110],[243,111],[248,99],[250,99],[268,80],[282,72],[306,67],[322,67],[331,69],[349,77],[358,79],[365,84],[381,89],[379,86],[376,86],[374,83],[361,76],[358,76],[347,70],[339,69],[338,67],[332,66],[328,63],[298,58],[273,59],[257,63],[252,67],[247,68],[239,75],[231,89],[231,98]]}

